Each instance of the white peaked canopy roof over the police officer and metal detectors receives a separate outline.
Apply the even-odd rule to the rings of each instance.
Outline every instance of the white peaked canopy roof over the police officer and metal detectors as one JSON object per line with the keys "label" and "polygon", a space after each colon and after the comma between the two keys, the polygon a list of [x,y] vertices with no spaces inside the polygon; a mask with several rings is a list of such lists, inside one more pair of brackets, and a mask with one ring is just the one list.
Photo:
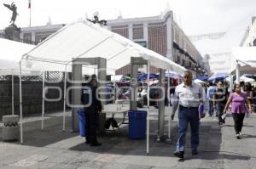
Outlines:
{"label": "white peaked canopy roof over the police officer and metal detectors", "polygon": [[[21,66],[22,69],[64,71],[73,59],[98,57],[107,59],[108,70],[130,64],[131,57],[142,57],[150,60],[150,65],[180,74],[185,70],[170,59],[87,20],[66,25],[49,36],[24,54]],[[67,66],[67,70],[71,70],[71,66]]]}

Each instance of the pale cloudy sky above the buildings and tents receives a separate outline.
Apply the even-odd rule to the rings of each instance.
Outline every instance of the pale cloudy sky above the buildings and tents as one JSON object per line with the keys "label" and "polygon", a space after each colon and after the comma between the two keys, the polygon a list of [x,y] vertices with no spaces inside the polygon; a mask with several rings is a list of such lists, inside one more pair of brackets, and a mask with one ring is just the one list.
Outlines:
{"label": "pale cloudy sky above the buildings and tents", "polygon": [[[28,0],[1,0],[15,2],[18,7],[16,25],[29,25]],[[175,20],[187,35],[225,31],[218,40],[205,39],[195,42],[201,54],[218,53],[238,46],[251,17],[256,15],[255,0],[32,0],[32,26],[69,23],[87,14],[89,18],[99,11],[100,19],[154,16],[166,6],[174,12]],[[9,25],[11,11],[0,5],[0,29]]]}

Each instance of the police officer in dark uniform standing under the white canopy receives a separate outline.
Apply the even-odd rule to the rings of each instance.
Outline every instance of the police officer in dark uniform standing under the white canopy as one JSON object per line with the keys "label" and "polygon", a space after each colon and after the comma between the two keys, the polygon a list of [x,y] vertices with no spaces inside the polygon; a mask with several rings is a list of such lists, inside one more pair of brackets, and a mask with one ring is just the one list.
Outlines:
{"label": "police officer in dark uniform standing under the white canopy", "polygon": [[[97,141],[96,130],[98,127],[99,121],[99,112],[102,111],[102,103],[99,100],[99,94],[96,91],[96,76],[91,76],[89,87],[87,90],[89,92],[82,93],[82,103],[87,104],[84,106],[85,112],[85,143],[90,144],[90,146],[99,146],[102,145]],[[91,99],[90,101],[88,101]]]}

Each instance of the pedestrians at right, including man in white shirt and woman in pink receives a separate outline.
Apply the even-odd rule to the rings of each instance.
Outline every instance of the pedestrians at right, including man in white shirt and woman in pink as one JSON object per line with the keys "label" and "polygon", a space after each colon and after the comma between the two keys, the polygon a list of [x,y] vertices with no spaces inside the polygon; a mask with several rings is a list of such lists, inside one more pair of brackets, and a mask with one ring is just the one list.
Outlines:
{"label": "pedestrians at right, including man in white shirt and woman in pink", "polygon": [[[241,139],[244,117],[253,112],[256,88],[244,82],[235,84],[234,90],[230,90],[228,83],[223,81],[199,85],[192,81],[192,72],[189,70],[184,72],[183,77],[184,82],[175,88],[172,99],[172,120],[178,111],[178,138],[174,155],[183,160],[185,135],[189,125],[191,152],[192,155],[198,154],[200,119],[207,113],[218,117],[218,125],[223,127],[229,110],[234,120],[236,138]],[[201,112],[201,105],[205,111]]]}

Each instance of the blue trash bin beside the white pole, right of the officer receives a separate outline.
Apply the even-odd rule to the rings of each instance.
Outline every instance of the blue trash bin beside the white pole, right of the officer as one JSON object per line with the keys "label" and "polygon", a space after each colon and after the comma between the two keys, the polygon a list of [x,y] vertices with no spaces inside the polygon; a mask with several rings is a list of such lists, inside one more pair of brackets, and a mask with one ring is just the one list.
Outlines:
{"label": "blue trash bin beside the white pole, right of the officer", "polygon": [[141,139],[146,136],[147,111],[131,110],[129,116],[129,138]]}

